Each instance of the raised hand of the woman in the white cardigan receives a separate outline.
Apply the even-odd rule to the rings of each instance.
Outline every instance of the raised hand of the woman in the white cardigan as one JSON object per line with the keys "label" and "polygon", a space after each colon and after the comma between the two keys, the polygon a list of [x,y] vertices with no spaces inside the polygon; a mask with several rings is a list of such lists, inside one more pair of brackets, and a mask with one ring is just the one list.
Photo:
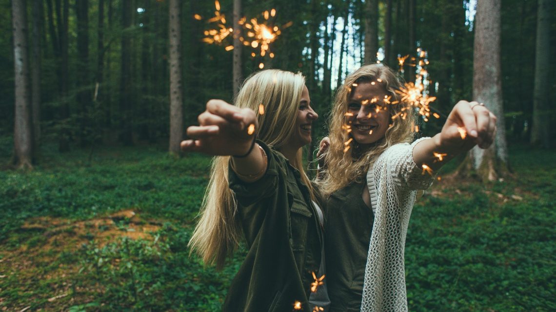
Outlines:
{"label": "raised hand of the woman in the white cardigan", "polygon": [[483,103],[460,100],[439,133],[439,144],[454,152],[465,152],[475,145],[486,149],[494,142],[496,120]]}

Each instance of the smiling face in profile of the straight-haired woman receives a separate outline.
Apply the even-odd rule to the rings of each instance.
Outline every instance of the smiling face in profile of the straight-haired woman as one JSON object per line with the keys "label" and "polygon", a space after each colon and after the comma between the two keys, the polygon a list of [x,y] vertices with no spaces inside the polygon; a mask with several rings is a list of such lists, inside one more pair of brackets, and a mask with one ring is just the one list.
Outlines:
{"label": "smiling face in profile of the straight-haired woman", "polygon": [[309,97],[309,89],[303,87],[301,100],[299,102],[299,110],[295,118],[294,132],[287,140],[285,146],[292,149],[299,149],[311,143],[311,124],[319,118],[319,115],[311,108],[311,98]]}

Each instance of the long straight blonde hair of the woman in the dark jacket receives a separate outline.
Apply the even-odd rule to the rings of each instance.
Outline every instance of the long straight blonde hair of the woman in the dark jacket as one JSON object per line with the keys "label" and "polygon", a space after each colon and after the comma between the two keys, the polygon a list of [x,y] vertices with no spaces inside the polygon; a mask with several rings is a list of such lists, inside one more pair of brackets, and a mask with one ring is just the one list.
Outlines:
{"label": "long straight blonde hair of the woman in the dark jacket", "polygon": [[[276,150],[294,133],[305,77],[300,73],[268,69],[257,72],[245,80],[237,94],[235,105],[253,109],[257,114],[257,138]],[[264,114],[259,105],[264,105]],[[209,186],[203,199],[200,220],[188,246],[195,250],[205,264],[216,264],[221,269],[242,239],[242,230],[236,218],[237,203],[228,184],[229,156],[212,159]],[[302,149],[290,163],[301,173],[302,181],[314,192],[302,166]]]}

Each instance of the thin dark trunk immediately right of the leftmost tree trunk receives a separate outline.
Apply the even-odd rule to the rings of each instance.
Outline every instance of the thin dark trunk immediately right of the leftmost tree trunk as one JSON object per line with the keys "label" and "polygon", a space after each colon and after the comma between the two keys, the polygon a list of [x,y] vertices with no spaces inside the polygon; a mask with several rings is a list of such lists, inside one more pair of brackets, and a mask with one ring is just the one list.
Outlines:
{"label": "thin dark trunk immediately right of the leftmost tree trunk", "polygon": [[41,139],[41,28],[43,21],[42,0],[33,0],[33,68],[32,68],[32,124],[33,124],[33,152]]}

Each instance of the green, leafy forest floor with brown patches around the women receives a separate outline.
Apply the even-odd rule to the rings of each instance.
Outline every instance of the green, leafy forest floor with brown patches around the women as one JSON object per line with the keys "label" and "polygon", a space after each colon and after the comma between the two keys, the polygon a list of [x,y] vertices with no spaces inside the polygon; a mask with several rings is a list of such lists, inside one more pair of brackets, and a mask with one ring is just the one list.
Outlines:
{"label": "green, leafy forest floor with brown patches around the women", "polygon": [[[0,311],[220,311],[245,250],[216,271],[186,246],[210,158],[54,150],[0,170]],[[409,225],[410,311],[553,311],[554,163],[556,150],[512,147],[513,177],[486,185],[446,166]]]}

